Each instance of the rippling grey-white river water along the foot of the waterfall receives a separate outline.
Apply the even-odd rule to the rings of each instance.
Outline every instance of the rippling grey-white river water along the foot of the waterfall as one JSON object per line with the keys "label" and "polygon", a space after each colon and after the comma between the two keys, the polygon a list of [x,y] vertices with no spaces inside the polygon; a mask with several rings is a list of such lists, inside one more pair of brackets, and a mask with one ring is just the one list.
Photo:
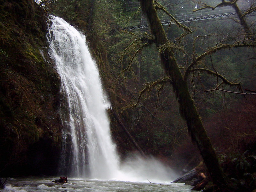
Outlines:
{"label": "rippling grey-white river water along the foot of the waterfall", "polygon": [[[153,184],[113,180],[86,180],[68,178],[68,183],[54,183],[56,177],[8,178],[2,192],[190,192],[183,183]],[[1,190],[0,190],[1,191]]]}

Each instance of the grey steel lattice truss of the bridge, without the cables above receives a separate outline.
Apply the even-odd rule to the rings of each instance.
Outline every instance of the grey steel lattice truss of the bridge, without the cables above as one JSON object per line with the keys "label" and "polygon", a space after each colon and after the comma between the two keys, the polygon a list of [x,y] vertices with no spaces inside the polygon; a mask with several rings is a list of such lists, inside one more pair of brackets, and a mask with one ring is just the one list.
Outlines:
{"label": "grey steel lattice truss of the bridge, without the cables above", "polygon": [[[251,12],[248,16],[255,16],[256,11]],[[230,13],[220,13],[220,14],[214,14],[214,15],[207,15],[207,16],[200,16],[200,17],[191,17],[191,18],[185,18],[185,19],[178,19],[180,23],[187,23],[187,22],[193,22],[193,21],[200,21],[200,20],[211,20],[211,19],[221,19],[225,17],[236,17],[236,12],[230,12]],[[175,24],[173,20],[170,21],[162,21],[162,25],[172,25]],[[131,26],[131,27],[124,27],[124,28],[116,28],[113,29],[113,31],[119,31],[119,30],[126,30],[126,31],[132,31],[137,29],[143,29],[143,28],[149,28],[148,24],[145,25],[137,25],[137,26]]]}

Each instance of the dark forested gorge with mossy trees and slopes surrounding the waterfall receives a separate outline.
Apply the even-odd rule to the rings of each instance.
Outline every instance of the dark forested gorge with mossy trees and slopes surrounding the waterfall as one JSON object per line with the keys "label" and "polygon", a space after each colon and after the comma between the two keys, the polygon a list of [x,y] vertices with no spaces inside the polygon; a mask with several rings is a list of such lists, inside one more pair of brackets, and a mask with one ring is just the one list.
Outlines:
{"label": "dark forested gorge with mossy trees and slopes surrounding the waterfall", "polygon": [[0,177],[58,171],[52,14],[86,35],[121,158],[153,155],[180,175],[196,167],[207,191],[255,190],[255,0],[0,0],[0,10]]}

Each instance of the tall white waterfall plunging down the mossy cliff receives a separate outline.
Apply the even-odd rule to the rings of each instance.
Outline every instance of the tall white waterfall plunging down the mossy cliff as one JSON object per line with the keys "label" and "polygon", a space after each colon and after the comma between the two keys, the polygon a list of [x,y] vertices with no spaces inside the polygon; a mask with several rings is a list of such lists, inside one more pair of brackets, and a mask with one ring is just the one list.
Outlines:
{"label": "tall white waterfall plunging down the mossy cliff", "polygon": [[86,37],[61,18],[50,16],[48,22],[48,54],[61,78],[61,119],[66,127],[61,159],[70,176],[110,179],[119,166],[106,111],[110,103]]}

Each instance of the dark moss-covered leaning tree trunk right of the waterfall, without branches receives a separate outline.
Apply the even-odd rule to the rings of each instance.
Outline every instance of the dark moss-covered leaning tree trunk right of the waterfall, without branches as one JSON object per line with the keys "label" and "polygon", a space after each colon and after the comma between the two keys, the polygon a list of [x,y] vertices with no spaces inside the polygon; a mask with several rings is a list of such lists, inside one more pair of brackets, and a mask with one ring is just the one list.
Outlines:
{"label": "dark moss-covered leaning tree trunk right of the waterfall, without branches", "polygon": [[179,100],[180,114],[187,122],[188,132],[199,148],[213,182],[221,188],[227,188],[227,178],[220,167],[212,143],[197,113],[194,101],[188,91],[188,84],[181,74],[172,47],[168,46],[168,39],[158,18],[153,0],[139,0],[139,2],[142,12],[147,16],[151,33],[155,37],[157,47],[160,50],[160,58],[165,72],[172,79],[173,90]]}

